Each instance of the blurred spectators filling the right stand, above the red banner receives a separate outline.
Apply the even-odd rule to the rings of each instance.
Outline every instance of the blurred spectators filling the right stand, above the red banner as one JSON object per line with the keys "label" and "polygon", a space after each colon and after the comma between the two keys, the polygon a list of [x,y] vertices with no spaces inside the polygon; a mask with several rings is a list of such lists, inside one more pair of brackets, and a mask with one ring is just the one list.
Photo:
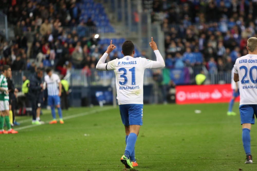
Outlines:
{"label": "blurred spectators filling the right stand, above the red banner", "polygon": [[154,0],[155,21],[165,33],[166,67],[231,71],[236,58],[247,54],[247,39],[257,37],[257,1]]}

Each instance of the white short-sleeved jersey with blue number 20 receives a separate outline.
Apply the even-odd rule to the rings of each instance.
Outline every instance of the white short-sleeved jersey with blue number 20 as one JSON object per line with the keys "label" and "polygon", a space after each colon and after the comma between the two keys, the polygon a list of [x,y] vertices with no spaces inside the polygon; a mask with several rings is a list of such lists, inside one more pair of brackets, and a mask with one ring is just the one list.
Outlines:
{"label": "white short-sleeved jersey with blue number 20", "polygon": [[257,55],[237,58],[234,67],[239,75],[240,105],[257,104]]}

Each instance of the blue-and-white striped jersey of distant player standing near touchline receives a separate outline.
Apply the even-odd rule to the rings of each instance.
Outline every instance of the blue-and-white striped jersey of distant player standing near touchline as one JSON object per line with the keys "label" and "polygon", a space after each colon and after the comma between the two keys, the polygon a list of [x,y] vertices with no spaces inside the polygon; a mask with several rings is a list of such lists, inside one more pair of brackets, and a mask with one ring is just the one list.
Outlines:
{"label": "blue-and-white striped jersey of distant player standing near touchline", "polygon": [[47,92],[49,96],[57,96],[59,94],[59,83],[60,78],[57,74],[52,74],[51,77],[49,75],[45,76],[45,82],[47,83]]}

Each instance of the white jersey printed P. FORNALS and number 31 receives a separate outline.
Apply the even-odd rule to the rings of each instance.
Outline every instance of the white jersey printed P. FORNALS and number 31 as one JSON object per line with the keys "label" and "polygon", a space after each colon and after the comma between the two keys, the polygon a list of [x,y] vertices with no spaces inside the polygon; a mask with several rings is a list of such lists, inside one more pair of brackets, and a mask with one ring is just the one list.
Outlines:
{"label": "white jersey printed P. FORNALS and number 31", "polygon": [[152,68],[153,61],[146,58],[124,56],[107,63],[107,70],[116,75],[117,100],[119,105],[143,104],[144,70]]}

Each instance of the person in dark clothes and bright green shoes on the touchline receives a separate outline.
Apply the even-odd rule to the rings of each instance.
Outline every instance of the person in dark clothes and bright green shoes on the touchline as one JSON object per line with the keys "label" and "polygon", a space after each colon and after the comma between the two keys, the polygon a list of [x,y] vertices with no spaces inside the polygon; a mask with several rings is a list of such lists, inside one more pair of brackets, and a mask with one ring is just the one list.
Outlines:
{"label": "person in dark clothes and bright green shoes on the touchline", "polygon": [[41,106],[41,92],[43,91],[42,83],[43,71],[38,69],[36,74],[30,79],[28,97],[32,104],[32,124],[40,125],[39,119],[36,119],[36,110]]}

